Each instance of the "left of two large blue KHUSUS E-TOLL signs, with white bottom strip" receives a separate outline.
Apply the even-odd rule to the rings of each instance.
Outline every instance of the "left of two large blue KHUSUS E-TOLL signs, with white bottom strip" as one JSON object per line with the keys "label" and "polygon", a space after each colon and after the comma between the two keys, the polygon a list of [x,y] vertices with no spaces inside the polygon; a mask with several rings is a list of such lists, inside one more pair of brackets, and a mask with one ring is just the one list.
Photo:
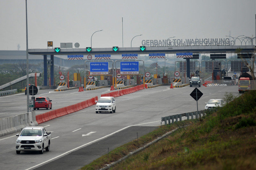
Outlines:
{"label": "left of two large blue KHUSUS E-TOLL signs, with white bottom strip", "polygon": [[90,74],[108,74],[108,62],[90,62]]}

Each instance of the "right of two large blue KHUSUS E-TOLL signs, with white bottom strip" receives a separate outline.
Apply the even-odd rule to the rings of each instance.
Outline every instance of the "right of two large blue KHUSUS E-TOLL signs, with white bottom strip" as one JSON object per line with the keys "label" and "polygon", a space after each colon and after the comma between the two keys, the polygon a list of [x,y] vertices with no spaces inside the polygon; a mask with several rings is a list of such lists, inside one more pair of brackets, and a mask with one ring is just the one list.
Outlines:
{"label": "right of two large blue KHUSUS E-TOLL signs, with white bottom strip", "polygon": [[139,74],[139,62],[120,62],[120,74]]}

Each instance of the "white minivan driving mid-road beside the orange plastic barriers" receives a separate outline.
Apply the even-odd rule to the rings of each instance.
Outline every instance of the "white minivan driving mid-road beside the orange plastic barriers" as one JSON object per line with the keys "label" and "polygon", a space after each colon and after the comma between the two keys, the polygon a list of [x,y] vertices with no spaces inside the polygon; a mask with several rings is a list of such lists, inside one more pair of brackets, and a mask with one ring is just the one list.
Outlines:
{"label": "white minivan driving mid-road beside the orange plastic barriers", "polygon": [[114,97],[105,96],[100,97],[100,99],[96,102],[96,113],[101,112],[116,112],[116,101]]}

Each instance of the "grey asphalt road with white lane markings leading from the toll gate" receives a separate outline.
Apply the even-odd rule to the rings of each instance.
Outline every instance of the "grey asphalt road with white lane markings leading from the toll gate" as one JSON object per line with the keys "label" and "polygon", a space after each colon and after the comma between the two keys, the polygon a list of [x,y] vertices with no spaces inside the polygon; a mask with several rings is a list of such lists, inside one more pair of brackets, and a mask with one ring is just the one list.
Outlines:
{"label": "grey asphalt road with white lane markings leading from the toll gate", "polygon": [[[13,170],[46,167],[59,169],[61,165],[61,169],[79,169],[101,155],[107,154],[108,148],[112,150],[136,139],[136,132],[142,136],[160,126],[161,117],[196,111],[196,101],[189,95],[194,88],[187,86],[170,89],[169,86],[160,86],[140,90],[116,97],[116,113],[96,114],[95,106],[91,106],[44,122],[40,126],[52,132],[52,144],[50,152],[44,152],[42,155],[37,152],[21,152],[17,155],[15,134],[0,137],[0,167]],[[203,96],[198,100],[199,110],[204,109],[204,103],[209,99],[223,99],[225,92],[231,92],[235,96],[241,95],[238,93],[238,87],[234,85],[202,86],[198,89],[203,92]],[[64,107],[100,96],[104,92],[108,91],[99,89],[85,92],[51,92],[52,94],[49,95],[51,95],[50,99],[56,102],[55,105],[53,104],[54,109],[57,106]],[[19,95],[13,97],[19,100]],[[23,98],[25,95],[20,97]],[[16,112],[18,110],[19,108],[16,107]],[[79,155],[83,161],[78,159]],[[68,166],[67,161],[72,166]]]}

